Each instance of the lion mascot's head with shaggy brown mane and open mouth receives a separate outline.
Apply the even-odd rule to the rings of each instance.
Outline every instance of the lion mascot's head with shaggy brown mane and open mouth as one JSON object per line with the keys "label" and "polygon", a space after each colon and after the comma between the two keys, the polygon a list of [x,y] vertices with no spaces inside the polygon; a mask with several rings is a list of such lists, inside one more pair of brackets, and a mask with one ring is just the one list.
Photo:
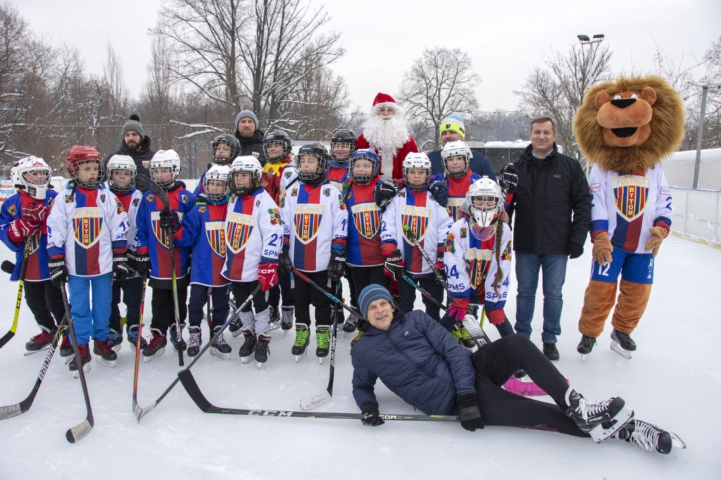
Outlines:
{"label": "lion mascot's head with shaggy brown mane and open mouth", "polygon": [[573,120],[588,161],[622,174],[642,172],[676,151],[684,136],[684,105],[659,76],[596,84]]}

